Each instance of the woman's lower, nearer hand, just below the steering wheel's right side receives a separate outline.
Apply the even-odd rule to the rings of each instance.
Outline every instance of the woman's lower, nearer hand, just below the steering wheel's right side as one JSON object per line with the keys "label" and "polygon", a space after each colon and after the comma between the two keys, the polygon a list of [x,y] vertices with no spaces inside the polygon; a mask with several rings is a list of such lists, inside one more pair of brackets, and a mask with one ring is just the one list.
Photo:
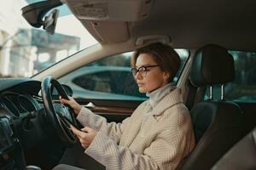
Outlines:
{"label": "woman's lower, nearer hand, just below the steering wheel's right side", "polygon": [[92,140],[95,138],[97,134],[97,132],[90,127],[84,127],[81,130],[79,130],[71,125],[71,130],[79,138],[79,141],[84,149],[89,147]]}

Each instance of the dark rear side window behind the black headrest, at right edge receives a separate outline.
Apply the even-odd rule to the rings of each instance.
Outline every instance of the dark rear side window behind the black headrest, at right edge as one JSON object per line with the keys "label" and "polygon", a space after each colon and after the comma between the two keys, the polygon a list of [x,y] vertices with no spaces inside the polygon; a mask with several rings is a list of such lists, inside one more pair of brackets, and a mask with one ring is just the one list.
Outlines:
{"label": "dark rear side window behind the black headrest, at right edge", "polygon": [[[256,53],[229,51],[235,61],[235,80],[225,84],[224,98],[237,102],[256,101]],[[205,99],[208,98],[208,89]],[[213,86],[213,99],[220,99],[220,88]]]}

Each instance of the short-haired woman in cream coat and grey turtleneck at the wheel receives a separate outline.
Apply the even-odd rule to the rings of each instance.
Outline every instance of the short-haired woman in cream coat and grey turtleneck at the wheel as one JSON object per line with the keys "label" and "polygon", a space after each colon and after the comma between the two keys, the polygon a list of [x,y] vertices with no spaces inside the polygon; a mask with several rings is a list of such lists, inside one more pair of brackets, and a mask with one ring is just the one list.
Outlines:
{"label": "short-haired woman in cream coat and grey turtleneck at the wheel", "polygon": [[149,99],[122,123],[108,123],[73,98],[61,99],[84,126],[72,127],[73,133],[84,153],[107,169],[175,169],[195,146],[189,111],[181,90],[171,83],[179,56],[172,47],[156,42],[137,49],[131,65],[139,92]]}

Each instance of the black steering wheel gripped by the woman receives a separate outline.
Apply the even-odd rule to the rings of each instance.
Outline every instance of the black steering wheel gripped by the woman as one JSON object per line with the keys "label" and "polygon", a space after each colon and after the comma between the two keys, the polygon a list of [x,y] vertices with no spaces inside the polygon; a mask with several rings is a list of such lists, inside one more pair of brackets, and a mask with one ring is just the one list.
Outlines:
{"label": "black steering wheel gripped by the woman", "polygon": [[69,123],[77,126],[77,122],[71,107],[62,105],[61,102],[53,102],[53,88],[56,89],[61,98],[68,99],[60,82],[52,77],[45,77],[41,85],[45,113],[61,142],[69,147],[77,143],[77,138],[70,129]]}

